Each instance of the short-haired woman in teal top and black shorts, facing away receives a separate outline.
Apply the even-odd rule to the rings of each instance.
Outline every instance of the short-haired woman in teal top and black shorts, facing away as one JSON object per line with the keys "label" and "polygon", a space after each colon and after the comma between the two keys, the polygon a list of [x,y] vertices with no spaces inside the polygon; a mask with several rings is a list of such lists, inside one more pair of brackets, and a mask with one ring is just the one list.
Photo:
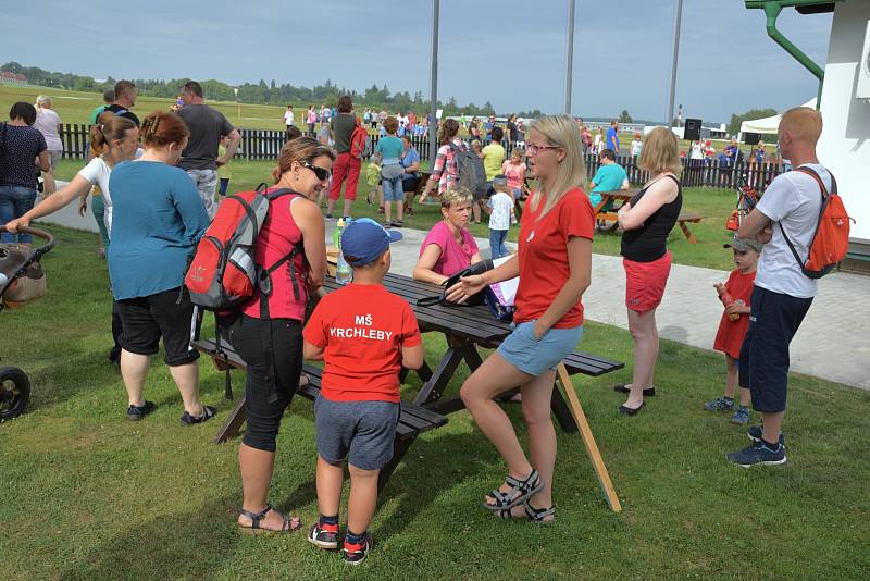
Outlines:
{"label": "short-haired woman in teal top and black shorts, facing away", "polygon": [[142,387],[162,337],[166,366],[184,400],[182,425],[201,423],[215,410],[199,400],[199,354],[190,347],[195,310],[183,281],[209,217],[190,177],[174,168],[190,135],[184,121],[151,113],[140,135],[145,154],[115,165],[109,181],[114,206],[109,276],[123,327],[127,418],[141,420],[154,409]]}

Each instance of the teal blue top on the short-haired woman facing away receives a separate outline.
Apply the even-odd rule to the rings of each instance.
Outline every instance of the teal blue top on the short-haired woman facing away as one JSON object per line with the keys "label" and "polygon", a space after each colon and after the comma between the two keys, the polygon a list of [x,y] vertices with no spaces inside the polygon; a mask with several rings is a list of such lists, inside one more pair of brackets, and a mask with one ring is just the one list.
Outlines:
{"label": "teal blue top on the short-haired woman facing away", "polygon": [[109,277],[116,300],[178,288],[187,259],[209,226],[192,180],[159,161],[125,161],[112,170]]}

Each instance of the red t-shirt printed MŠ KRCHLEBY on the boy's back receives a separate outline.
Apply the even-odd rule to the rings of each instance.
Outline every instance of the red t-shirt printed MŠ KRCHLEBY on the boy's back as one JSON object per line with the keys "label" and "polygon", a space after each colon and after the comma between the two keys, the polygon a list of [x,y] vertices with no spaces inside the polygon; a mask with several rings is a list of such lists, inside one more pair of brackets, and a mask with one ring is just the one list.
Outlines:
{"label": "red t-shirt printed M\u0160 KRCHLEBY on the boy's back", "polygon": [[323,297],[302,331],[323,347],[321,394],[333,401],[399,401],[400,347],[423,341],[408,302],[380,284]]}

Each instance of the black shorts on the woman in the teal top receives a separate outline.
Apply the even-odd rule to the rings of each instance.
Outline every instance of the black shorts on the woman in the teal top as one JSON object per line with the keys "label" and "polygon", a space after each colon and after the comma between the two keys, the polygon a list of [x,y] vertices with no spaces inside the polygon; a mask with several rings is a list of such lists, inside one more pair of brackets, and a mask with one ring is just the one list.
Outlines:
{"label": "black shorts on the woman in the teal top", "polygon": [[172,288],[147,297],[117,301],[121,313],[121,347],[136,355],[154,355],[163,337],[164,361],[170,367],[183,366],[199,358],[190,346],[195,310],[187,289]]}

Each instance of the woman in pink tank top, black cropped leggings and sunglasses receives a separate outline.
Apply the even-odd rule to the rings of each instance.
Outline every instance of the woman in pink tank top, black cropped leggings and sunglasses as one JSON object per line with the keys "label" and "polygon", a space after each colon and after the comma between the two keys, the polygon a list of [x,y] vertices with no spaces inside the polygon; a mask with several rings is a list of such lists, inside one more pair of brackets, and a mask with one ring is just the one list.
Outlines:
{"label": "woman in pink tank top, black cropped leggings and sunglasses", "polygon": [[[316,199],[327,187],[334,159],[332,149],[311,137],[284,144],[278,156],[277,184],[268,194],[282,188],[291,193],[270,202],[268,218],[257,237],[257,264],[269,268],[295,248],[301,246],[302,251],[272,273],[272,293],[266,305],[261,305],[261,295],[256,290],[253,298],[238,311],[219,319],[221,335],[228,338],[248,366],[245,387],[248,429],[238,450],[244,491],[238,526],[246,532],[291,532],[300,527],[298,517],[278,512],[266,498],[281,418],[299,387],[302,372],[306,302],[323,285],[326,244]],[[264,338],[271,343],[274,357],[264,353]]]}

